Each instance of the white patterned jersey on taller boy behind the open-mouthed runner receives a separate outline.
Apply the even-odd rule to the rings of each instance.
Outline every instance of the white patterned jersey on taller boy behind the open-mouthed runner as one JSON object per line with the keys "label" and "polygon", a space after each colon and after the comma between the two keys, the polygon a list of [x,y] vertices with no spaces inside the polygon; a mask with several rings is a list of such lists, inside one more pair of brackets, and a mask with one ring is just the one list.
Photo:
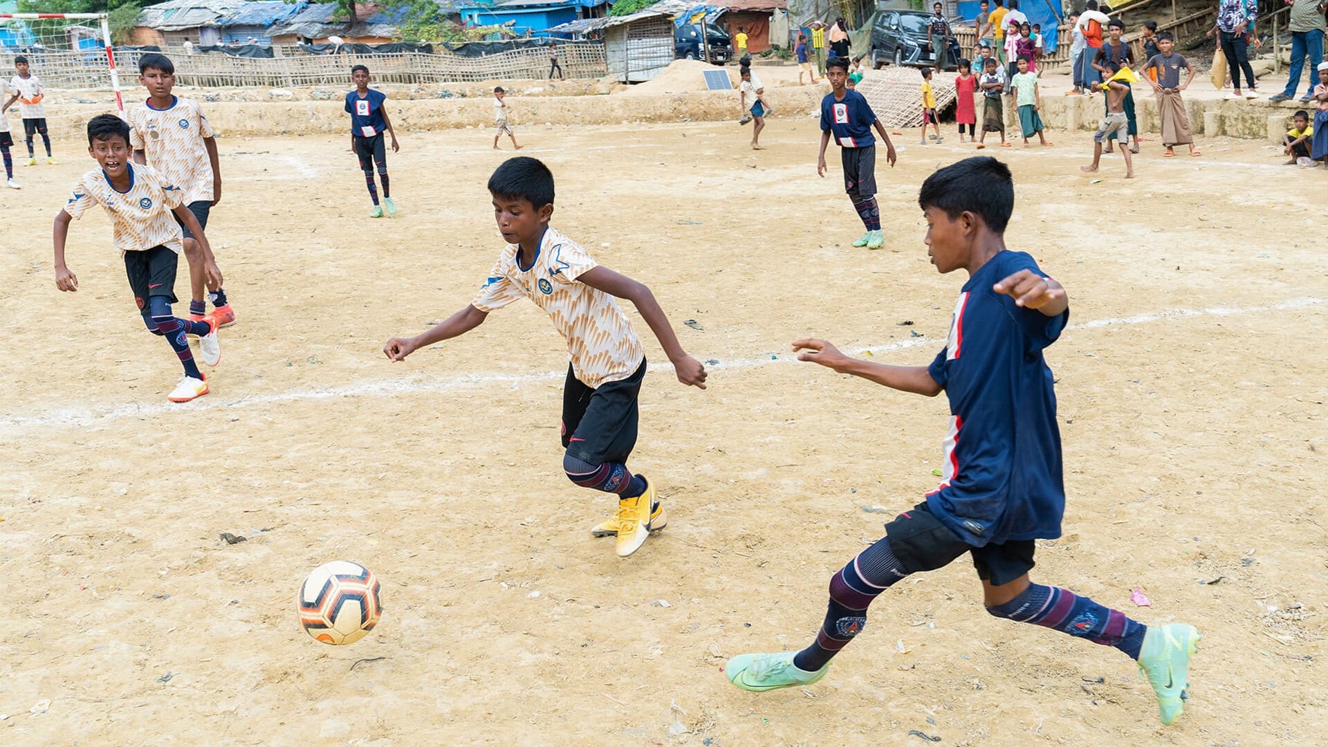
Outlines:
{"label": "white patterned jersey on taller boy behind the open-mouthed runner", "polygon": [[142,150],[147,162],[185,193],[185,205],[211,202],[212,162],[203,138],[212,137],[212,128],[197,101],[174,100],[169,109],[153,109],[147,104],[130,109],[129,124],[134,132],[129,145]]}

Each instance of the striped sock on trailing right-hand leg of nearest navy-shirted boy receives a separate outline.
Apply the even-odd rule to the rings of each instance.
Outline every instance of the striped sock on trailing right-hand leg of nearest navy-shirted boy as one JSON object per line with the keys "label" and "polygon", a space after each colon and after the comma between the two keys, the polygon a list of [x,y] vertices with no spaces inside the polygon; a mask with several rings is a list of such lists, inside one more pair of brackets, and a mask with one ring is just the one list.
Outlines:
{"label": "striped sock on trailing right-hand leg of nearest navy-shirted boy", "polygon": [[1068,589],[1029,584],[1028,589],[1004,605],[987,607],[987,611],[1016,622],[1031,622],[1068,633],[1076,638],[1088,638],[1102,646],[1120,649],[1131,659],[1139,658],[1143,634],[1147,626],[1135,622],[1125,613],[1080,597]]}

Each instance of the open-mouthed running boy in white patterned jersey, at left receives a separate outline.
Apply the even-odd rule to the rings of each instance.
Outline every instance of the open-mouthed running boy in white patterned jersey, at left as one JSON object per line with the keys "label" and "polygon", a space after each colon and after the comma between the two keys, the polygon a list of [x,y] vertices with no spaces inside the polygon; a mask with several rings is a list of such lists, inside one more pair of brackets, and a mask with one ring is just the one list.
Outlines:
{"label": "open-mouthed running boy in white patterned jersey, at left", "polygon": [[56,215],[56,287],[70,292],[78,290],[78,278],[65,266],[69,222],[93,205],[101,205],[114,226],[116,249],[125,259],[129,287],[143,323],[154,335],[166,338],[185,366],[185,377],[170,393],[170,401],[203,396],[207,380],[194,363],[186,335],[198,335],[203,363],[216,366],[222,359],[218,322],[215,316],[202,322],[177,319],[170,311],[175,302],[177,255],[183,250],[185,238],[171,214],[189,226],[206,250],[203,227],[181,203],[179,189],[151,166],[130,163],[129,124],[120,117],[98,114],[88,122],[88,153],[100,169],[78,179],[64,210]]}

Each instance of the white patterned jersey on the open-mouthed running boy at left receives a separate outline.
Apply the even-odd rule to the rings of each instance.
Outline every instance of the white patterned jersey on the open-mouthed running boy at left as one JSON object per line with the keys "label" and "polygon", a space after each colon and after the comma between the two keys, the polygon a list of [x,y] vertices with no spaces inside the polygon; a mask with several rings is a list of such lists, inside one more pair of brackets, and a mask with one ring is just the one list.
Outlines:
{"label": "white patterned jersey on the open-mouthed running boy at left", "polygon": [[106,173],[93,169],[84,174],[65,202],[65,213],[78,218],[93,205],[101,205],[116,231],[116,249],[146,251],[154,246],[179,254],[185,249],[185,234],[171,210],[181,203],[181,191],[161,177],[151,166],[127,163],[129,191],[117,191],[106,179]]}

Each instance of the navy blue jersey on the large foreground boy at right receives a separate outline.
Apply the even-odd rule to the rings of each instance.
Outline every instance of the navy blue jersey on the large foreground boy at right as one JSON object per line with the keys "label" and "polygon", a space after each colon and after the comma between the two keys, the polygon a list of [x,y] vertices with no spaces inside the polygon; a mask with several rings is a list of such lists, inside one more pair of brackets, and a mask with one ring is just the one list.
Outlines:
{"label": "navy blue jersey on the large foreground boy at right", "polygon": [[1042,348],[1069,319],[992,290],[1033,258],[1001,251],[964,283],[928,374],[950,399],[942,482],[927,506],[971,545],[1061,536],[1065,486],[1052,370]]}

